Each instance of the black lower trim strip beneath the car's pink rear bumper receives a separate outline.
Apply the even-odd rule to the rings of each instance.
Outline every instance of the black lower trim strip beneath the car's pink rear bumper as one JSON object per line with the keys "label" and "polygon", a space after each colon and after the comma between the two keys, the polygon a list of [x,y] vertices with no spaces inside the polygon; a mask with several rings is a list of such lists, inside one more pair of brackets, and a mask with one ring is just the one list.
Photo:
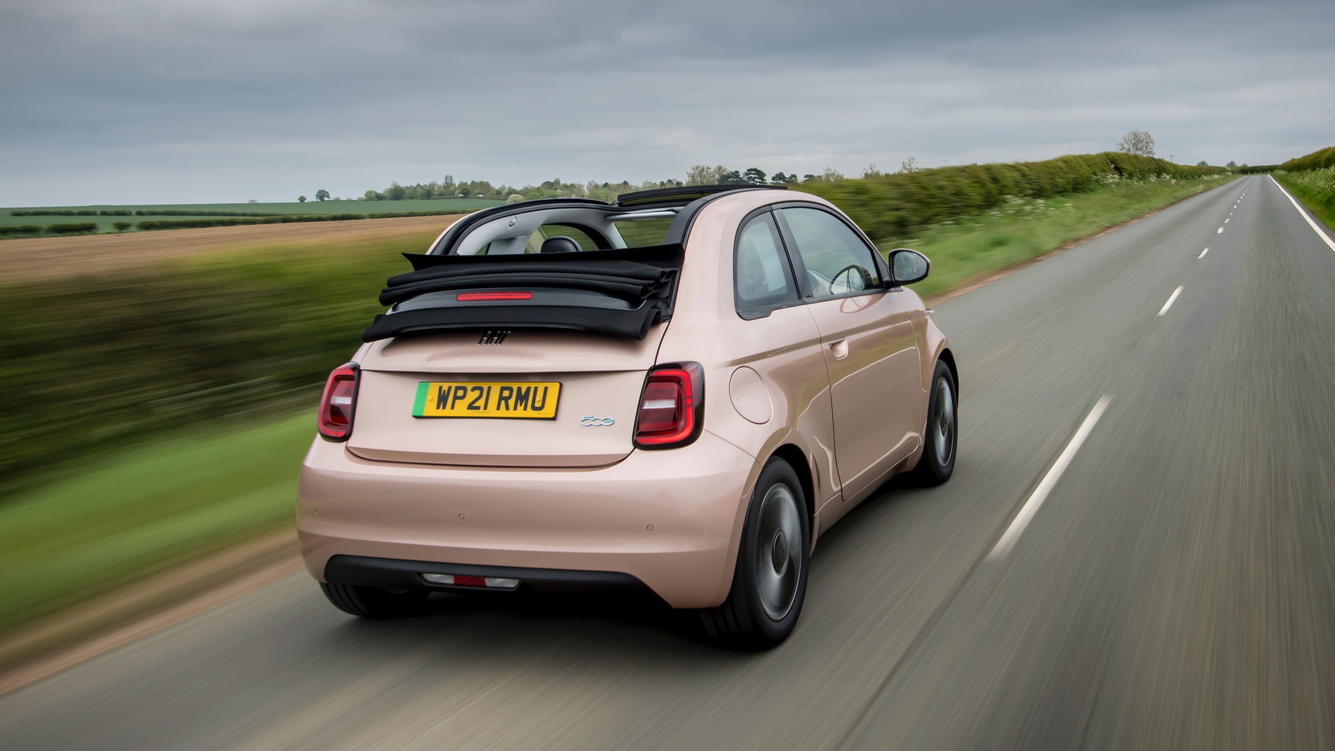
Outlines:
{"label": "black lower trim strip beneath the car's pink rear bumper", "polygon": [[334,556],[324,564],[324,580],[330,584],[351,587],[383,587],[386,589],[467,589],[478,587],[450,587],[431,584],[423,573],[454,573],[463,576],[491,576],[518,579],[525,584],[575,584],[593,587],[646,588],[642,581],[618,571],[567,571],[559,568],[519,568],[510,565],[443,564],[433,561],[406,561],[399,559],[372,559],[367,556]]}

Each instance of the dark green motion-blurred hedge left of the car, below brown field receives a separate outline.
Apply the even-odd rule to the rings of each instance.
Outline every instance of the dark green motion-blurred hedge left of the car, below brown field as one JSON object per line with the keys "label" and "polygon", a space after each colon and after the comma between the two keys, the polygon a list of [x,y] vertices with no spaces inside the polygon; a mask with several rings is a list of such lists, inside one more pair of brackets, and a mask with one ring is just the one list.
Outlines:
{"label": "dark green motion-blurred hedge left of the car, below brown field", "polygon": [[0,493],[163,430],[311,406],[435,231],[0,286]]}

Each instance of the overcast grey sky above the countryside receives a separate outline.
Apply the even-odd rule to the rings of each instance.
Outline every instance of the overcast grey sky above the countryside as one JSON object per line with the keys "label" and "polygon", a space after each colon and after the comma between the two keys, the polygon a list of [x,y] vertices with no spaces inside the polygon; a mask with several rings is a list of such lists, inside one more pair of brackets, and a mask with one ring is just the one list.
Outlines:
{"label": "overcast grey sky above the countryside", "polygon": [[0,206],[1335,144],[1335,3],[0,0]]}

